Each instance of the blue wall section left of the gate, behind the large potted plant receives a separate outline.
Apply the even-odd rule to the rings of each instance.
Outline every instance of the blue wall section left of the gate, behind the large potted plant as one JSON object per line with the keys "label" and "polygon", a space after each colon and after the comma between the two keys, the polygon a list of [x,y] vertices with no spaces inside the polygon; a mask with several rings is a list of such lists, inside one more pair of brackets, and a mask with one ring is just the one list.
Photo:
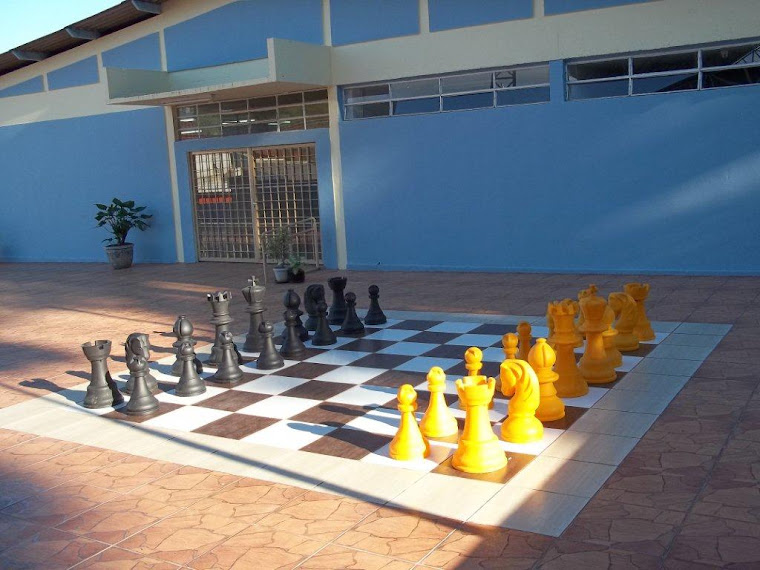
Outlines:
{"label": "blue wall section left of the gate, behind the large potted plant", "polygon": [[0,260],[105,262],[93,204],[119,197],[154,215],[136,261],[176,261],[161,109],[2,127],[0,148]]}

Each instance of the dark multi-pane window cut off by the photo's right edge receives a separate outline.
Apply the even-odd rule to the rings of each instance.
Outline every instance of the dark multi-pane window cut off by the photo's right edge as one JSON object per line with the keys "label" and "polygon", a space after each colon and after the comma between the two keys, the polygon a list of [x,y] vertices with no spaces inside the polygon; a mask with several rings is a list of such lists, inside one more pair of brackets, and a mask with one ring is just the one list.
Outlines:
{"label": "dark multi-pane window cut off by the photo's right edge", "polygon": [[760,83],[760,43],[570,62],[567,98],[598,99]]}

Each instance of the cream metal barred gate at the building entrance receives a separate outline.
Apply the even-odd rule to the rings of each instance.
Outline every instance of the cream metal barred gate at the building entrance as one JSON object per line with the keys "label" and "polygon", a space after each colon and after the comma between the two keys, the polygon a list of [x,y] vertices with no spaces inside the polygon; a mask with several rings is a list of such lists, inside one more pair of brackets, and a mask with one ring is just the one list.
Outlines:
{"label": "cream metal barred gate at the building entrance", "polygon": [[200,152],[190,159],[200,261],[261,261],[261,236],[287,226],[293,253],[320,263],[314,145]]}

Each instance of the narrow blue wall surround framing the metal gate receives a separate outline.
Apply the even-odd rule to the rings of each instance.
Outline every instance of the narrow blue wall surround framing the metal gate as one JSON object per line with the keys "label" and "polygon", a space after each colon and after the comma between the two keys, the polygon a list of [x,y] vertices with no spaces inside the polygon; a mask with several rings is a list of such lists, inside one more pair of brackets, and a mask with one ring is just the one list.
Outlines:
{"label": "narrow blue wall surround framing the metal gate", "polygon": [[315,143],[317,155],[317,185],[319,188],[319,220],[322,233],[322,257],[325,267],[337,267],[335,238],[335,202],[332,187],[330,136],[327,129],[262,133],[218,139],[199,139],[174,143],[177,159],[177,183],[180,195],[180,215],[185,261],[197,261],[193,197],[190,186],[189,153],[203,150],[220,150],[285,144]]}

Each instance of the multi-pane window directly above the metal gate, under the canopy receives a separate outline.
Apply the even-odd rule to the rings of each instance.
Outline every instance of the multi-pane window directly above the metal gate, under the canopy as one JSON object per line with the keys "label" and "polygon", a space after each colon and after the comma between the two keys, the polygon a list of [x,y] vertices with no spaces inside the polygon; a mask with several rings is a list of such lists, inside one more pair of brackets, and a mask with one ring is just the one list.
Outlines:
{"label": "multi-pane window directly above the metal gate, under the canopy", "polygon": [[327,128],[327,91],[319,89],[174,108],[177,140]]}

